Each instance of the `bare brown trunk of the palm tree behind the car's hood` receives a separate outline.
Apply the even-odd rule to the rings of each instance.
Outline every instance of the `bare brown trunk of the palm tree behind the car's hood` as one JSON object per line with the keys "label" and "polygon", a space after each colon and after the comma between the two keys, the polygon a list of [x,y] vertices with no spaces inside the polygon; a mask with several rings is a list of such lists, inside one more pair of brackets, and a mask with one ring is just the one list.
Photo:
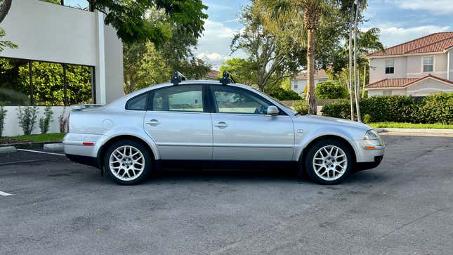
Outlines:
{"label": "bare brown trunk of the palm tree behind the car's hood", "polygon": [[308,114],[316,115],[315,98],[315,30],[307,30],[307,109]]}

